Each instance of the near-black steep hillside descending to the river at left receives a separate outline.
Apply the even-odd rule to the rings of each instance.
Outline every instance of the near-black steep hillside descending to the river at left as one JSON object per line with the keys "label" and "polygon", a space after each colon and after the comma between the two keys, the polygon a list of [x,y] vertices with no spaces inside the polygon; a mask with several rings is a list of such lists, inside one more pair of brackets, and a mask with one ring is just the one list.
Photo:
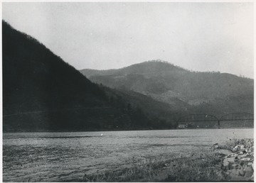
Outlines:
{"label": "near-black steep hillside descending to the river at left", "polygon": [[154,123],[34,38],[4,21],[2,30],[4,131],[132,130]]}

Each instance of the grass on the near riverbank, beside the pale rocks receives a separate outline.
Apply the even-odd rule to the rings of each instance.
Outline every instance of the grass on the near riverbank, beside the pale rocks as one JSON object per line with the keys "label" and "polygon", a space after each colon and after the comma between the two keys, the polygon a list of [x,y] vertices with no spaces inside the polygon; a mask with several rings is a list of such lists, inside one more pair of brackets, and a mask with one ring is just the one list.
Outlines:
{"label": "grass on the near riverbank, beside the pale rocks", "polygon": [[[252,139],[233,139],[220,145],[220,148],[233,150],[236,145],[244,145],[253,150]],[[102,174],[85,174],[81,182],[198,182],[229,181],[223,167],[223,158],[213,148],[198,150],[186,157],[166,159],[156,158],[133,160],[127,167]],[[76,180],[77,182],[78,180]]]}

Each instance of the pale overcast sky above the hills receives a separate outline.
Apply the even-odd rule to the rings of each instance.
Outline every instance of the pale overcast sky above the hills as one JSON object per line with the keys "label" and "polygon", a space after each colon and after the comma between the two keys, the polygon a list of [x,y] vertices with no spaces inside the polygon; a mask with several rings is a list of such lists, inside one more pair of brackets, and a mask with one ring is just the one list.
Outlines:
{"label": "pale overcast sky above the hills", "polygon": [[160,59],[253,78],[252,3],[4,3],[2,16],[78,70]]}

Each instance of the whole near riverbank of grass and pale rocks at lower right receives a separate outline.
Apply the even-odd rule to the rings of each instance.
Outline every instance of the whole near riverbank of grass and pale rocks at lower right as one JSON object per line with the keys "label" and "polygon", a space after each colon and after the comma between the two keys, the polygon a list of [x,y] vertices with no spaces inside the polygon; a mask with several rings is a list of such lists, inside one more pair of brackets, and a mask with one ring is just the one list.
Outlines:
{"label": "whole near riverbank of grass and pale rocks at lower right", "polygon": [[138,158],[132,165],[103,174],[85,174],[75,182],[253,181],[253,139],[229,140],[210,150],[174,159]]}

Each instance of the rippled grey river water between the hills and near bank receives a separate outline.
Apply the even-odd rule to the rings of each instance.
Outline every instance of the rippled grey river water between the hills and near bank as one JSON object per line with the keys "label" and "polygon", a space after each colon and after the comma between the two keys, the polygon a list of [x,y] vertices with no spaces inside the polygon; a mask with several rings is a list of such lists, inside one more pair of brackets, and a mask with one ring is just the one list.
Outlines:
{"label": "rippled grey river water between the hills and near bank", "polygon": [[137,158],[176,158],[253,129],[4,133],[4,182],[64,182],[129,165]]}

